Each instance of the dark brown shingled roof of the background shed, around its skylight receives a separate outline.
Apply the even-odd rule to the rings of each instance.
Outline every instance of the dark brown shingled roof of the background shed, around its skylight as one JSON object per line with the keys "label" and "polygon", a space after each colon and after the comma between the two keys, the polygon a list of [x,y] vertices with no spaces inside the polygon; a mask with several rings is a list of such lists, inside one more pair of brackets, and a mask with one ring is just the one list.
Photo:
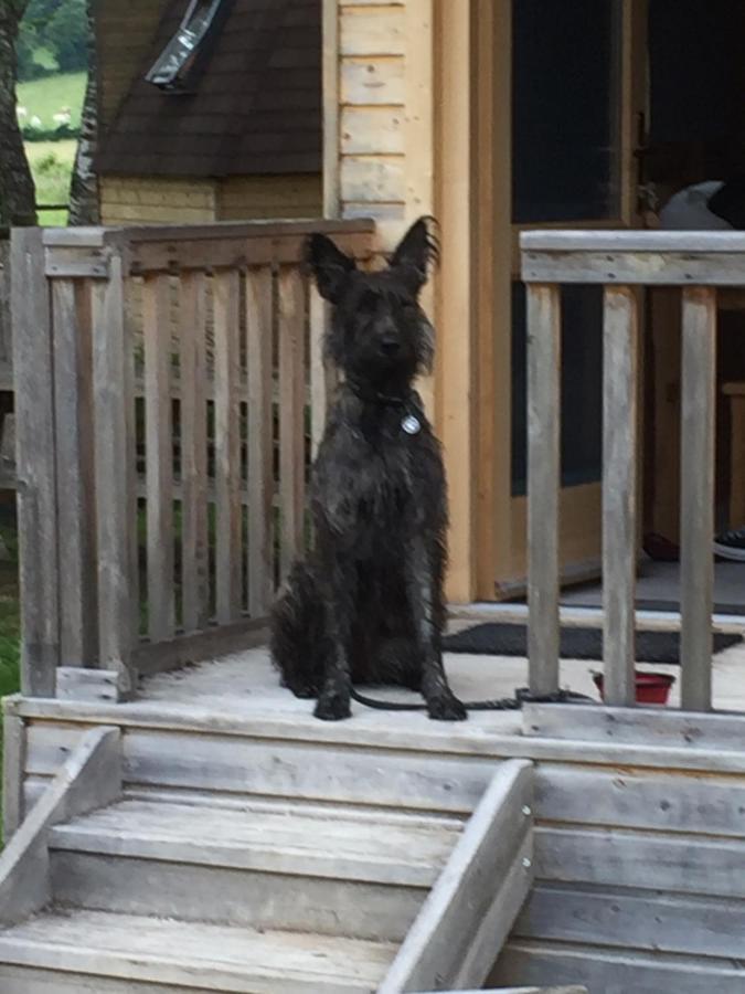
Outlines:
{"label": "dark brown shingled roof of the background shed, around its skylight", "polygon": [[147,64],[104,136],[99,173],[247,176],[321,169],[321,0],[232,0],[189,94],[145,72],[188,0],[166,8]]}

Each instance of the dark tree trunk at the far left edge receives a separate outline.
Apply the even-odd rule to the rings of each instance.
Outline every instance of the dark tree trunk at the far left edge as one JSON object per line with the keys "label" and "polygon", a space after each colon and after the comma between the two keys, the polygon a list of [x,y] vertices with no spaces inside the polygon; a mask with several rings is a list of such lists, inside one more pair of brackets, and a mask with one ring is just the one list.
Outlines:
{"label": "dark tree trunk at the far left edge", "polygon": [[15,43],[28,0],[0,0],[0,366],[11,359],[9,229],[36,223],[36,191],[15,116]]}

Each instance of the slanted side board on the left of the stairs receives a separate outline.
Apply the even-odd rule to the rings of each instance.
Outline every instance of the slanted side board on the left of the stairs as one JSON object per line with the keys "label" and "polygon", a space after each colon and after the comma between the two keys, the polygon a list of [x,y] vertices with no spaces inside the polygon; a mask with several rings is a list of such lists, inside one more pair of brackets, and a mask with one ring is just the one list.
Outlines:
{"label": "slanted side board on the left of the stairs", "polygon": [[91,729],[0,854],[0,923],[13,924],[47,903],[50,827],[120,793],[119,730]]}

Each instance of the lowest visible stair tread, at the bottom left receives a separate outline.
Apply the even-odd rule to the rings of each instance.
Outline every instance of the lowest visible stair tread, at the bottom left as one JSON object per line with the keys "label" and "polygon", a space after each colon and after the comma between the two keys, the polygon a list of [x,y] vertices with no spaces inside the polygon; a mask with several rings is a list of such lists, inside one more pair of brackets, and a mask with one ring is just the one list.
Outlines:
{"label": "lowest visible stair tread, at the bottom left", "polygon": [[51,909],[0,930],[3,963],[241,992],[374,990],[396,950],[391,942],[88,910]]}

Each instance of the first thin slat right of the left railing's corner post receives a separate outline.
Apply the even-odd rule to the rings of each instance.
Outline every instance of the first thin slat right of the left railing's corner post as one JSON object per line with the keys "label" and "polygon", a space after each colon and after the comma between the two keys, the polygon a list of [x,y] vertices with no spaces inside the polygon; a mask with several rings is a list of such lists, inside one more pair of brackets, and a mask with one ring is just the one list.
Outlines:
{"label": "first thin slat right of the left railing's corner post", "polygon": [[171,412],[171,285],[156,276],[142,286],[148,522],[148,633],[173,636],[173,426]]}

